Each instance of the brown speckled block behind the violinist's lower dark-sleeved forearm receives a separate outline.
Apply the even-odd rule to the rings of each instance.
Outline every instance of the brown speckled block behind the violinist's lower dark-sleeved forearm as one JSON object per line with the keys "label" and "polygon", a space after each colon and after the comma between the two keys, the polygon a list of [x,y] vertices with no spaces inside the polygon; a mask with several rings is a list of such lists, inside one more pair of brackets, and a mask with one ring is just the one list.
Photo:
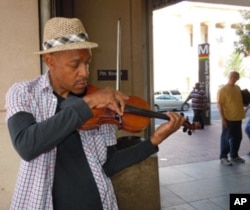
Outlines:
{"label": "brown speckled block behind the violinist's lower dark-sleeved forearm", "polygon": [[[138,143],[140,137],[121,137],[120,149]],[[141,139],[143,140],[143,139]],[[160,210],[160,189],[157,155],[152,155],[112,177],[119,210]]]}

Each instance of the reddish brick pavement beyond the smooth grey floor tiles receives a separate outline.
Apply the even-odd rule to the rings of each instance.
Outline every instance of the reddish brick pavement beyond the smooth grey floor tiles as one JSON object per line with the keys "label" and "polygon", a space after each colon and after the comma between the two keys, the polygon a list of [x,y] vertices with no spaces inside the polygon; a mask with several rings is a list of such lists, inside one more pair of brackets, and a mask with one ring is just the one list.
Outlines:
{"label": "reddish brick pavement beyond the smooth grey floor tiles", "polygon": [[[250,151],[250,141],[244,133],[239,155]],[[160,145],[159,167],[196,163],[219,158],[221,121],[212,121],[204,130],[196,130],[191,136],[177,131]]]}

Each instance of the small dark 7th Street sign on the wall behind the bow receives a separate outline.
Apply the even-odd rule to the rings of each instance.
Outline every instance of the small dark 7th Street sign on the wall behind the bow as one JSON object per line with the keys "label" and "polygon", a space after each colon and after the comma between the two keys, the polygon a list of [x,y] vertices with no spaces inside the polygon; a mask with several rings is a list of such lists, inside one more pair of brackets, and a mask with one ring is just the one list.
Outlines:
{"label": "small dark 7th Street sign on the wall behind the bow", "polygon": [[[121,80],[128,80],[128,70],[120,71]],[[116,80],[116,70],[97,70],[97,80]]]}

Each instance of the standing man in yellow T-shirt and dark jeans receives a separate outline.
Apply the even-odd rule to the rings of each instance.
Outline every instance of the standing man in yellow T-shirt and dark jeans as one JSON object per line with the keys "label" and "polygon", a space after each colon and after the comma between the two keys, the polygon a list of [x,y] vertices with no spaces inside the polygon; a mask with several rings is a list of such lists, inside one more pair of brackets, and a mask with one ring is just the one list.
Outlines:
{"label": "standing man in yellow T-shirt and dark jeans", "polygon": [[[238,72],[230,72],[227,84],[217,93],[222,123],[220,160],[226,166],[231,166],[232,161],[245,162],[238,154],[242,140],[242,119],[245,118],[241,89],[235,84],[239,78]],[[228,159],[228,154],[231,160]]]}

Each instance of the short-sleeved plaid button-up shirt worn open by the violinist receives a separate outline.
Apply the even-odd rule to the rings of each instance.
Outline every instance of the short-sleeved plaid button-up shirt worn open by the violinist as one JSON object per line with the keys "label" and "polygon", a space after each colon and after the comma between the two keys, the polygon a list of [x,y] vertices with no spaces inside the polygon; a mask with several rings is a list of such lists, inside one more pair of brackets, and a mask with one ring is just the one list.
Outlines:
{"label": "short-sleeved plaid button-up shirt worn open by the violinist", "polygon": [[[57,98],[53,94],[48,75],[49,72],[36,80],[16,83],[9,89],[6,95],[6,121],[18,112],[31,113],[36,122],[42,122],[55,115]],[[99,129],[79,131],[79,134],[97,183],[103,209],[118,209],[111,180],[102,168],[107,158],[107,146],[116,144],[115,128],[111,125],[102,125]],[[31,161],[21,160],[11,209],[53,209],[55,164],[56,146]]]}

